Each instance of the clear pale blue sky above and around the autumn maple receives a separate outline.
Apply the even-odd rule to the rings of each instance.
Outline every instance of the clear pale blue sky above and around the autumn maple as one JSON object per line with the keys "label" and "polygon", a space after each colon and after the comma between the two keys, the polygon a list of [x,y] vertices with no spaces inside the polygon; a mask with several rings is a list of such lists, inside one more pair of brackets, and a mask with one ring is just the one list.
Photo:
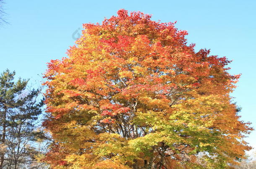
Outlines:
{"label": "clear pale blue sky above and around the autumn maple", "polygon": [[[120,8],[152,14],[153,20],[178,21],[196,51],[233,60],[231,74],[242,73],[232,93],[240,115],[256,128],[255,0],[5,0],[9,25],[0,28],[0,72],[40,81],[51,59],[65,57],[83,23],[101,23]],[[76,32],[76,30],[78,30]],[[256,131],[246,138],[256,148]]]}

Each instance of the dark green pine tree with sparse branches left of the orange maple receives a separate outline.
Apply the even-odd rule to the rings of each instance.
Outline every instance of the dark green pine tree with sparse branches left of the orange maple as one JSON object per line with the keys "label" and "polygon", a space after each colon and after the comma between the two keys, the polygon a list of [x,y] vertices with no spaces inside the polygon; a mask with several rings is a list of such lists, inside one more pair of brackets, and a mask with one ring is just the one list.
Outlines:
{"label": "dark green pine tree with sparse branches left of the orange maple", "polygon": [[28,80],[14,82],[15,72],[0,75],[0,168],[22,169],[33,163],[39,152],[35,141],[42,138],[37,130],[43,102],[41,89],[29,90]]}

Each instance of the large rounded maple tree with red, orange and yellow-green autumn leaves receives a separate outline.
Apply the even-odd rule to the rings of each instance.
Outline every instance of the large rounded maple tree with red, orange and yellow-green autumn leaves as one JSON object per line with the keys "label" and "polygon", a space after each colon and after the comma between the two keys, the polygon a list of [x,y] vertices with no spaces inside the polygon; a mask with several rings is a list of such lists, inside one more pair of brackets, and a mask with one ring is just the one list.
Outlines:
{"label": "large rounded maple tree with red, orange and yellow-green autumn leaves", "polygon": [[53,169],[222,169],[250,149],[227,58],[141,12],[83,26],[45,73]]}

